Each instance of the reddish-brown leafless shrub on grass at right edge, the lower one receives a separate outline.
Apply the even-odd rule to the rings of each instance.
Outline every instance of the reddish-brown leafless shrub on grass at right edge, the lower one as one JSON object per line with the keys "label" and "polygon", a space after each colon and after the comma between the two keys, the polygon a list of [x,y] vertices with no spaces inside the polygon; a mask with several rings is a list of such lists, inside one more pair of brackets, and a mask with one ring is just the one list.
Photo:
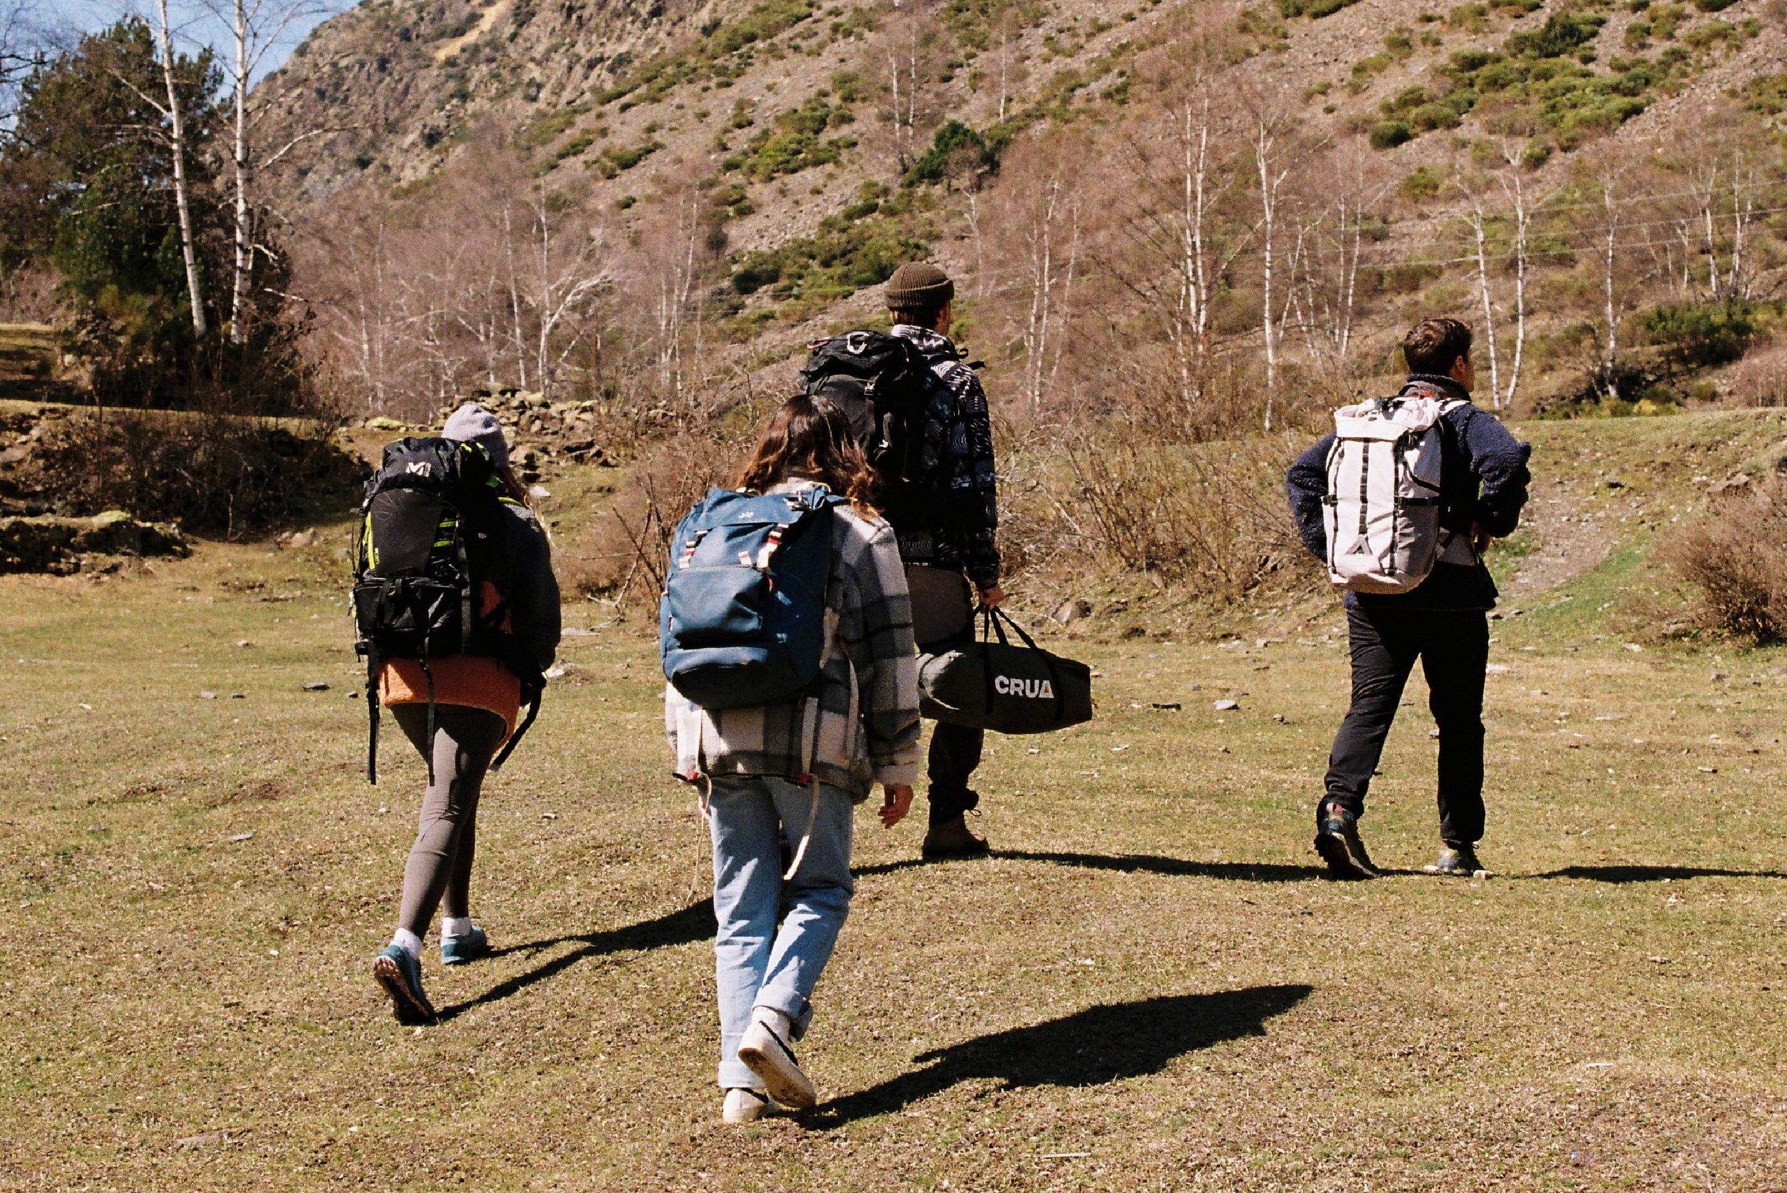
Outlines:
{"label": "reddish-brown leafless shrub on grass at right edge, the lower one", "polygon": [[1710,629],[1751,643],[1787,638],[1787,482],[1717,502],[1660,555],[1699,589]]}

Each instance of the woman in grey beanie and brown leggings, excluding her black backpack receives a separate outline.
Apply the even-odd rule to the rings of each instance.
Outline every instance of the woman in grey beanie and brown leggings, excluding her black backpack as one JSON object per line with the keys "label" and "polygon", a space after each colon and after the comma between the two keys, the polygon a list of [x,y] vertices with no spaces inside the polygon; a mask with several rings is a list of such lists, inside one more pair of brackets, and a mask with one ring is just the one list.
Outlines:
{"label": "woman in grey beanie and brown leggings, excluding her black backpack", "polygon": [[[493,620],[493,632],[486,638],[493,654],[390,657],[375,675],[379,702],[391,709],[404,736],[429,764],[416,841],[404,863],[397,932],[372,963],[372,975],[391,997],[400,1023],[434,1018],[434,1005],[422,991],[422,938],[436,907],[445,913],[441,964],[466,964],[490,952],[484,929],[472,923],[470,905],[477,797],[491,759],[515,734],[524,697],[524,679],[516,672],[538,677],[552,666],[559,643],[552,546],[527,507],[527,491],[509,468],[502,427],[490,411],[465,404],[447,420],[441,438],[482,452],[490,463],[484,470],[490,479],[477,486],[481,493],[468,495],[466,504],[482,498],[484,514],[495,529],[484,532],[497,543],[488,552],[488,573],[479,579],[481,591],[475,595],[481,616]],[[459,516],[470,521],[474,513],[461,509]],[[424,532],[431,541],[436,538],[432,527],[424,527]],[[508,652],[508,661],[493,657],[499,652]]]}

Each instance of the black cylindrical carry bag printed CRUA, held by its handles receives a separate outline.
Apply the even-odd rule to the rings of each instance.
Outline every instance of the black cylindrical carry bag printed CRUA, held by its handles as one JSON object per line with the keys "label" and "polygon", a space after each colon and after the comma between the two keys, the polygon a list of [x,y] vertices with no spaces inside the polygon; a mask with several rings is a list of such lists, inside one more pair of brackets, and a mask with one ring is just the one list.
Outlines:
{"label": "black cylindrical carry bag printed CRUA, held by its handles", "polygon": [[1049,654],[1017,622],[988,609],[981,641],[919,655],[919,714],[1001,734],[1067,729],[1092,720],[1092,668]]}

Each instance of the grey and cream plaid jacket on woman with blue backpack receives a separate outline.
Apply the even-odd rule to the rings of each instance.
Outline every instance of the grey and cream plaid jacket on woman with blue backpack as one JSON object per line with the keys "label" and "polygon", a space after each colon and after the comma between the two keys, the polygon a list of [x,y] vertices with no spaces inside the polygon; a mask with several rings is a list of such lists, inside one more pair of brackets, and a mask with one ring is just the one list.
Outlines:
{"label": "grey and cream plaid jacket on woman with blue backpack", "polygon": [[[795,480],[772,493],[806,488]],[[919,659],[894,529],[838,505],[826,584],[826,654],[817,700],[702,709],[665,684],[675,775],[808,775],[865,800],[872,784],[919,777]]]}

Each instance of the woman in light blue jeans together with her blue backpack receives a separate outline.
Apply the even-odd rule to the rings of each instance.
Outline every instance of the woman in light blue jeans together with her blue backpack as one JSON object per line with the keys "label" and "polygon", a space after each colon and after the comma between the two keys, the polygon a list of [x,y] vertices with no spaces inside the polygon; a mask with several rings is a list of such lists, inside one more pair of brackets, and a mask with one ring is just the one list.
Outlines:
{"label": "woman in light blue jeans together with her blue backpack", "polygon": [[[675,773],[702,789],[713,838],[722,1116],[747,1123],[770,1098],[793,1107],[817,1102],[792,1045],[811,1023],[813,988],[849,913],[854,805],[872,784],[885,791],[883,825],[899,823],[911,805],[919,673],[899,545],[868,504],[872,473],[843,413],[826,398],[790,398],[770,418],[736,488],[742,493],[715,491],[677,527],[665,600],[672,677],[665,722]],[[734,500],[743,495],[756,500]],[[747,509],[731,521],[717,513],[738,507]],[[765,511],[768,527],[754,543]],[[738,550],[745,543],[756,550]],[[808,586],[799,570],[783,568],[777,554],[820,563],[810,577],[824,589],[822,600],[802,595]],[[679,604],[677,571],[706,586],[686,604]],[[711,600],[726,591],[742,596]],[[740,705],[731,691],[704,697],[706,707],[690,700],[683,689],[701,691],[701,655],[674,647],[724,643],[727,634],[740,645],[713,647],[722,679],[708,691],[726,691],[727,668],[740,677],[734,689],[786,688],[776,675],[747,679],[767,672],[749,666],[765,657],[747,641],[758,614],[740,611],[776,600],[783,609],[774,616],[799,622],[776,634],[779,643],[799,641],[806,627],[822,630],[817,677],[792,700]],[[697,666],[683,668],[688,657]],[[799,675],[801,664],[790,670]]]}

